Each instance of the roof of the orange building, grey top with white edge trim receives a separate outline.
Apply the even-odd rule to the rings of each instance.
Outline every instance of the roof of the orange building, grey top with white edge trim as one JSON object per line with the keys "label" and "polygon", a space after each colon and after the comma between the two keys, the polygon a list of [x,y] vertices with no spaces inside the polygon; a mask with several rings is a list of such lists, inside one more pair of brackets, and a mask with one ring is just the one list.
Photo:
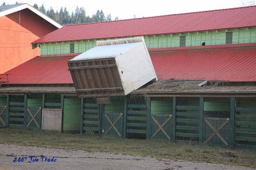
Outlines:
{"label": "roof of the orange building, grey top with white edge trim", "polygon": [[39,15],[40,17],[44,18],[45,20],[47,20],[47,22],[51,23],[52,25],[54,25],[57,28],[62,27],[60,24],[58,24],[58,22],[52,20],[50,17],[47,17],[46,15],[44,15],[44,13],[41,13],[40,11],[36,10],[33,6],[31,6],[30,4],[27,4],[27,3],[10,4],[10,5],[0,6],[0,17],[3,17],[10,13],[15,13],[17,11],[24,10],[24,9],[29,9],[29,10],[33,11],[34,13],[36,13],[36,15]]}

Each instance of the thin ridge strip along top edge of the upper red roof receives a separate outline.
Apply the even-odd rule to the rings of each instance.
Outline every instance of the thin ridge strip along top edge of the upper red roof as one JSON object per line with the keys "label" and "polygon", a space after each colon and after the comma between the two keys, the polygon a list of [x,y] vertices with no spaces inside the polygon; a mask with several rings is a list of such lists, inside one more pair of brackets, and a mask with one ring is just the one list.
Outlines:
{"label": "thin ridge strip along top edge of the upper red roof", "polygon": [[225,11],[225,10],[237,10],[241,8],[255,8],[256,5],[253,6],[241,6],[236,8],[224,8],[219,10],[207,10],[207,11],[194,11],[194,12],[188,12],[188,13],[174,13],[174,14],[168,14],[168,15],[158,15],[158,16],[152,16],[152,17],[141,17],[141,18],[129,18],[124,20],[110,20],[110,21],[103,21],[103,22],[91,22],[91,23],[83,23],[83,24],[68,24],[64,27],[74,26],[74,25],[90,25],[90,24],[100,24],[100,23],[108,23],[108,22],[119,22],[119,21],[125,21],[125,20],[140,20],[145,18],[157,18],[157,17],[167,17],[167,16],[173,16],[173,15],[187,15],[187,14],[193,14],[193,13],[205,13],[205,12],[212,12],[212,11]]}

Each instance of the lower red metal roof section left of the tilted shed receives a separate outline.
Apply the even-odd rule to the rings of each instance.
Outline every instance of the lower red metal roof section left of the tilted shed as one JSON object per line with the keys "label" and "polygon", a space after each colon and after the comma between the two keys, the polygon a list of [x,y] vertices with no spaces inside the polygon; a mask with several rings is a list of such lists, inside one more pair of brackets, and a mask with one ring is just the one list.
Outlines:
{"label": "lower red metal roof section left of the tilted shed", "polygon": [[72,84],[68,71],[68,60],[76,54],[65,57],[56,55],[35,57],[24,64],[8,71],[10,84]]}

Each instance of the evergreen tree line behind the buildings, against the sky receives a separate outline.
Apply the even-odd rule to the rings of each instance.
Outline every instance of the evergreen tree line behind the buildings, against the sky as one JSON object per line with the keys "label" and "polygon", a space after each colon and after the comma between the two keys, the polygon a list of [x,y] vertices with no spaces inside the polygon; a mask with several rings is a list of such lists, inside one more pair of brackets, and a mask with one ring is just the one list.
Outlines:
{"label": "evergreen tree line behind the buildings, against the sky", "polygon": [[[16,2],[16,4],[19,4]],[[6,5],[6,3],[3,3],[1,6]],[[58,22],[61,25],[67,25],[67,24],[84,24],[84,23],[92,23],[92,22],[104,22],[104,21],[111,21],[112,17],[111,14],[105,15],[105,13],[102,10],[97,10],[95,14],[93,14],[91,17],[89,15],[86,15],[86,11],[83,7],[76,7],[75,11],[72,11],[71,13],[68,12],[67,8],[61,7],[60,10],[54,10],[52,7],[50,9],[45,9],[44,4],[42,6],[38,6],[38,4],[33,5],[36,10],[41,11],[48,17],[52,18],[56,22]],[[118,17],[115,17],[114,20],[118,20]]]}

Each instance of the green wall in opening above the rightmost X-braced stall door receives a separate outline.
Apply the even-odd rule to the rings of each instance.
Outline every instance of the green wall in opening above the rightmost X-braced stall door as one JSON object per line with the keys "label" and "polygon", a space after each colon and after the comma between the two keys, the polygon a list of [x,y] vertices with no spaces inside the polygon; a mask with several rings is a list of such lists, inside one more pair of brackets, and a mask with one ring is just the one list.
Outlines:
{"label": "green wall in opening above the rightmost X-braced stall door", "polygon": [[230,98],[205,97],[204,111],[230,111]]}

